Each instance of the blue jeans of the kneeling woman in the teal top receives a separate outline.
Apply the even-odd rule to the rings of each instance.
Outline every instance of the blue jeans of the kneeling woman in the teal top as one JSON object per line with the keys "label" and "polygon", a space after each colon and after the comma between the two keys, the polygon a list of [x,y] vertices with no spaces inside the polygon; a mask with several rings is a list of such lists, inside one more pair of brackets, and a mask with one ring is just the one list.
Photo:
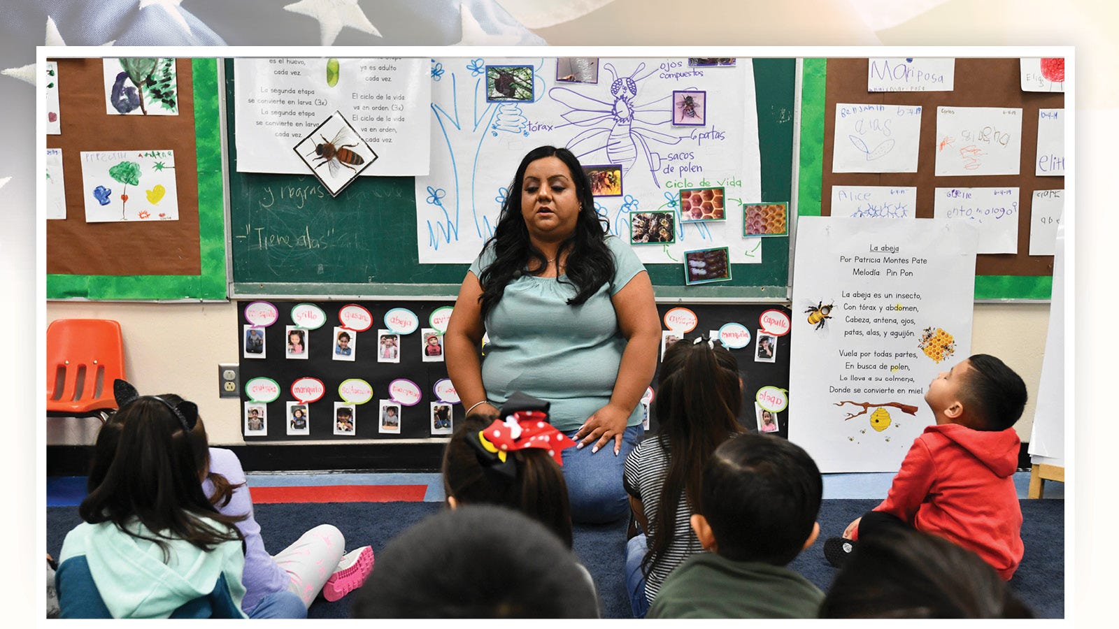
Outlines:
{"label": "blue jeans of the kneeling woman in the teal top", "polygon": [[[563,477],[567,481],[572,522],[604,524],[617,522],[629,514],[629,497],[622,487],[622,470],[626,457],[633,451],[642,430],[641,424],[626,429],[622,433],[622,448],[617,457],[613,440],[593,454],[593,444],[585,445],[582,450],[567,448],[563,451]],[[576,432],[579,431],[572,430],[564,434],[575,440]]]}

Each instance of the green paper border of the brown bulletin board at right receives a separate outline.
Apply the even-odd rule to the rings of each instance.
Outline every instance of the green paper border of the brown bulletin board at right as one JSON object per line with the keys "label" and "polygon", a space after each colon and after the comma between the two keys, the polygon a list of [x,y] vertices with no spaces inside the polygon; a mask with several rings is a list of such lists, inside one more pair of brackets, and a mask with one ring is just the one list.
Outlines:
{"label": "green paper border of the brown bulletin board at right", "polygon": [[[824,111],[827,59],[806,58],[800,84],[800,172],[798,216],[819,216],[824,185]],[[1052,275],[976,275],[975,299],[1049,300]]]}

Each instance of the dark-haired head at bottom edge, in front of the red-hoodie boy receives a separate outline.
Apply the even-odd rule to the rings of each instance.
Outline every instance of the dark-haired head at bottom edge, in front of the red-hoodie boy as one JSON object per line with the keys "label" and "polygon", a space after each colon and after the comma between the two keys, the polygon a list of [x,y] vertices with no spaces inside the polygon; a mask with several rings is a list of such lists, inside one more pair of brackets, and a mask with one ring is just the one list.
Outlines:
{"label": "dark-haired head at bottom edge, in front of the red-hoodie boy", "polygon": [[820,618],[1033,618],[978,555],[899,527],[859,541]]}

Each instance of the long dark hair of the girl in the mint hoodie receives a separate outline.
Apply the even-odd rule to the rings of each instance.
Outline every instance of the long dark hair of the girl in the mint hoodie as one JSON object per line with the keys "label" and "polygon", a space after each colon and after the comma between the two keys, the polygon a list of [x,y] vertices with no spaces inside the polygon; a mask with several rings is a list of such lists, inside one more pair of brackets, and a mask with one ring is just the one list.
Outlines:
{"label": "long dark hair of the girl in the mint hoodie", "polygon": [[[78,515],[92,524],[112,522],[129,535],[157,543],[164,560],[167,539],[184,539],[206,552],[223,542],[242,539],[234,523],[245,516],[217,513],[203,492],[199,470],[191,438],[179,417],[159,400],[139,397],[121,407],[97,433],[88,495],[78,506]],[[133,519],[154,536],[129,531],[125,525]]]}

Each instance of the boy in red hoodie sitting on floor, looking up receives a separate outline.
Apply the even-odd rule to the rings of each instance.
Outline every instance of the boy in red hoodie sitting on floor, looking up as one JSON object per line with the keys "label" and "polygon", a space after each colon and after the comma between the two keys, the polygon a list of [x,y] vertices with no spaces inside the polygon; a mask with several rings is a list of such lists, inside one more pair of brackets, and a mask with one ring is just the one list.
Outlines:
{"label": "boy in red hoodie sitting on floor, looking up", "polygon": [[976,354],[941,372],[924,395],[937,425],[913,441],[886,499],[824,543],[841,566],[855,541],[897,526],[944,537],[974,551],[1009,580],[1022,561],[1022,508],[1013,475],[1014,423],[1026,385],[1002,360]]}

